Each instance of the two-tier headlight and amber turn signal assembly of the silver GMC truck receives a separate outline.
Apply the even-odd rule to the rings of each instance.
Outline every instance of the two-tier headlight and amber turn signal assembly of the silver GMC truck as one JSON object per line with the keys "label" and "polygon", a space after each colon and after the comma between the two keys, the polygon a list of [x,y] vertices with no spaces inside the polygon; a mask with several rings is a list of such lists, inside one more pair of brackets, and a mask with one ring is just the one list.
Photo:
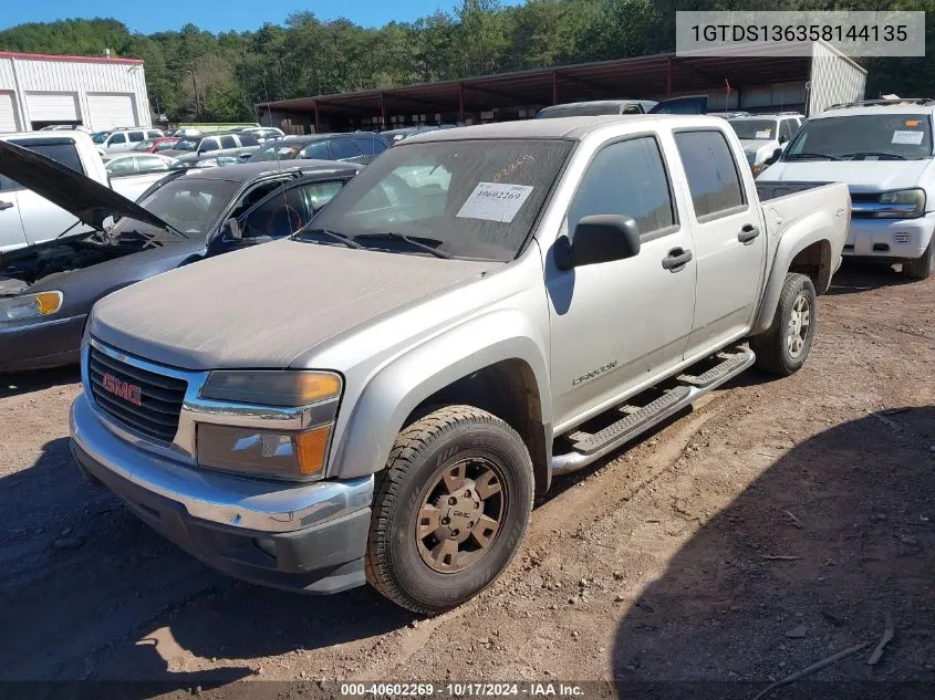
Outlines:
{"label": "two-tier headlight and amber turn signal assembly of the silver GMC truck", "polygon": [[201,397],[249,405],[297,409],[313,421],[304,429],[198,425],[198,464],[276,479],[311,480],[324,474],[342,380],[329,372],[212,372]]}

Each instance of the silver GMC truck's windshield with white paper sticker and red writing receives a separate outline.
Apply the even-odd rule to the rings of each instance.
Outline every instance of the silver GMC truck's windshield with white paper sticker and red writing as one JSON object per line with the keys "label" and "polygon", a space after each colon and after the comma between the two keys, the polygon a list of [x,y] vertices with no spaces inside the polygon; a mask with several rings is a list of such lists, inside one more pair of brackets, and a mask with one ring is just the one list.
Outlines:
{"label": "silver GMC truck's windshield with white paper sticker and red writing", "polygon": [[425,254],[402,234],[447,257],[509,261],[570,150],[570,142],[547,139],[404,142],[351,180],[297,238],[333,242],[324,231]]}

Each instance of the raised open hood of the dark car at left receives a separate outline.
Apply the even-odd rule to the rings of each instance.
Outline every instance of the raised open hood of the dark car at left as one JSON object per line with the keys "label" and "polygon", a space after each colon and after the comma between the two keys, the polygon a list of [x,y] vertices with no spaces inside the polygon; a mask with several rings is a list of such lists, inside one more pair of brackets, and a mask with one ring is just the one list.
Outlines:
{"label": "raised open hood of the dark car at left", "polygon": [[160,229],[170,227],[139,205],[51,158],[0,140],[0,174],[28,187],[83,223],[103,230],[107,217],[127,217]]}

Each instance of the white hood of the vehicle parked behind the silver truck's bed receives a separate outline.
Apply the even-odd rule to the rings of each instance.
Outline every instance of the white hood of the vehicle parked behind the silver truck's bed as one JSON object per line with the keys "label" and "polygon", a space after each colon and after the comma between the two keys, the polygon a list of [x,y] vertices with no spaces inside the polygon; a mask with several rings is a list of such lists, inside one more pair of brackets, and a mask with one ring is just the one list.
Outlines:
{"label": "white hood of the vehicle parked behind the silver truck's bed", "polygon": [[915,187],[932,160],[780,160],[760,173],[763,181],[845,182],[851,191]]}

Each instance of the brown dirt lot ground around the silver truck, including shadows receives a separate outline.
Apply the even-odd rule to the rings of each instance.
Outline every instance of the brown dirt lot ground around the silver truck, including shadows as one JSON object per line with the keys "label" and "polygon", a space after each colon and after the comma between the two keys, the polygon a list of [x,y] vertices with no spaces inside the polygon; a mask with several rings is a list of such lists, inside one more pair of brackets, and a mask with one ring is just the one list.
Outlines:
{"label": "brown dirt lot ground around the silver truck, including shadows", "polygon": [[[706,680],[751,698],[871,642],[809,679],[931,683],[934,314],[935,279],[845,267],[801,373],[741,377],[560,480],[508,573],[434,619],[370,589],[311,598],[212,573],[82,481],[75,370],[6,377],[0,679],[225,699],[291,692],[241,679]],[[895,638],[869,666],[887,613]]]}

